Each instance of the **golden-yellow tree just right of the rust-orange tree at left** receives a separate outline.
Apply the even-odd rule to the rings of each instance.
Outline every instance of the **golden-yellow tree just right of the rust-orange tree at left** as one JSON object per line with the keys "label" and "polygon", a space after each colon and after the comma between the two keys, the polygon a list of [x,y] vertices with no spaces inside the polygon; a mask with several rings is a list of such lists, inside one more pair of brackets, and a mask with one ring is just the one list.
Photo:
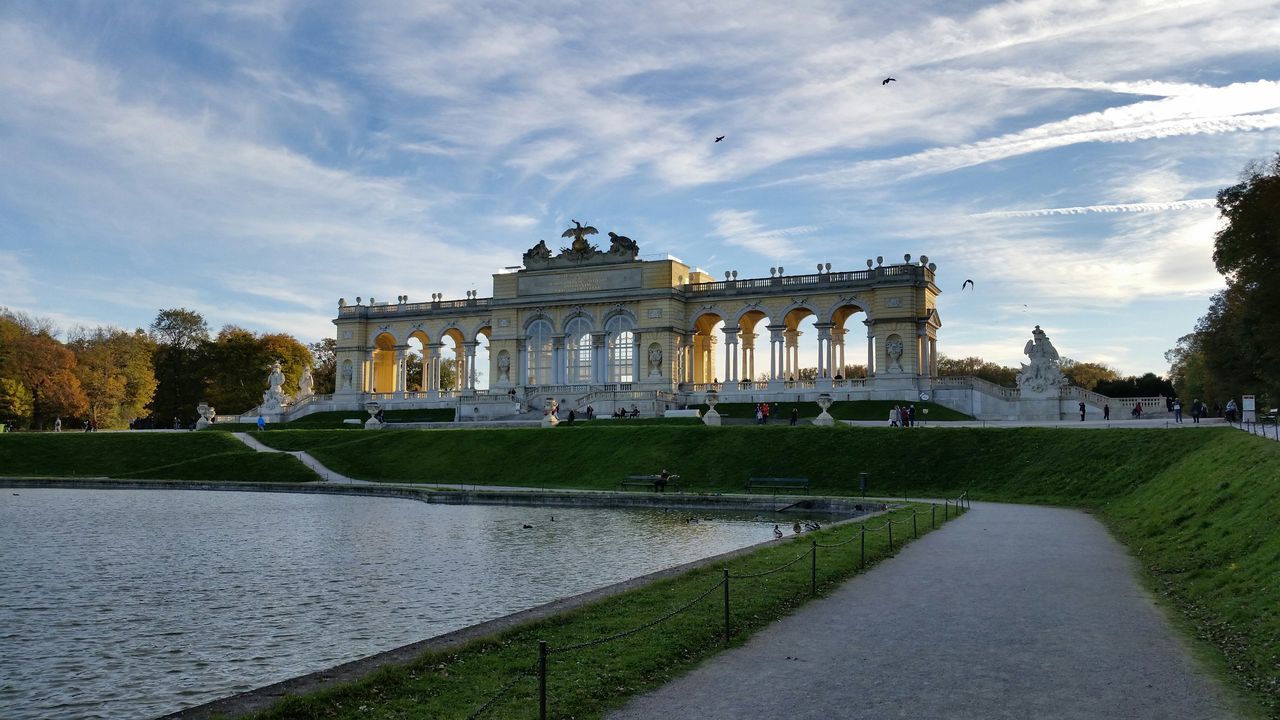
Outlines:
{"label": "golden-yellow tree just right of the rust-orange tree at left", "polygon": [[124,428],[146,414],[156,391],[155,343],[138,329],[78,329],[68,342],[76,377],[88,400],[88,416],[104,428]]}

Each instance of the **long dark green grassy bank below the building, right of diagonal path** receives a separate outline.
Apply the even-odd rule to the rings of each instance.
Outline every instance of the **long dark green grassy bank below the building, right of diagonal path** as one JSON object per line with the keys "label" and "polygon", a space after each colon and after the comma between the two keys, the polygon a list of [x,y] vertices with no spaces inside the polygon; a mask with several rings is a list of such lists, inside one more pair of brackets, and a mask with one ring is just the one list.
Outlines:
{"label": "long dark green grassy bank below the building, right of diagonal path", "polygon": [[[1126,492],[1215,433],[980,428],[732,428],[602,423],[573,432],[266,432],[371,480],[613,488],[623,475],[669,468],[694,491],[741,491],[753,475],[808,477],[817,492],[956,493],[972,487],[1025,501],[1087,503]],[[1010,495],[1012,493],[1012,495]],[[1092,498],[1092,500],[1089,500]]]}

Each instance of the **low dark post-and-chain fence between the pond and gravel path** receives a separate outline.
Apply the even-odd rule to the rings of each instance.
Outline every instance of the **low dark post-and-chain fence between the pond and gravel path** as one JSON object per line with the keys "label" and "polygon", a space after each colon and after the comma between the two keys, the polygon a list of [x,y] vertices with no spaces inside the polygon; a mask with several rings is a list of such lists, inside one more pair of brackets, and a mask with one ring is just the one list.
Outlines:
{"label": "low dark post-and-chain fence between the pond and gravel path", "polygon": [[[968,509],[969,509],[969,493],[968,492],[961,493],[956,498],[946,498],[943,501],[943,519],[946,520],[946,519],[950,519],[950,518],[954,518],[954,516],[959,516],[961,511],[968,510]],[[931,528],[936,528],[937,527],[937,510],[938,510],[937,505],[929,503],[929,527]],[[701,593],[699,593],[698,597],[690,600],[689,602],[685,602],[684,605],[676,607],[675,610],[671,610],[671,611],[666,612],[664,615],[662,615],[659,618],[655,618],[653,620],[649,620],[648,623],[636,625],[634,628],[628,628],[626,630],[612,633],[609,635],[604,635],[604,637],[595,638],[595,639],[591,639],[591,641],[586,641],[586,642],[581,642],[581,643],[575,643],[575,644],[561,646],[561,647],[550,647],[547,643],[547,641],[539,641],[538,642],[538,661],[536,661],[536,664],[532,667],[530,667],[529,670],[524,670],[524,671],[518,673],[515,678],[512,678],[511,682],[508,682],[506,685],[503,685],[503,688],[500,691],[498,691],[494,696],[489,697],[485,701],[484,705],[481,705],[475,712],[472,712],[467,717],[467,720],[479,720],[494,705],[497,705],[498,701],[500,701],[503,697],[506,697],[507,693],[509,693],[512,691],[512,688],[515,688],[516,685],[518,685],[521,680],[526,680],[526,679],[529,679],[531,676],[536,676],[538,678],[538,717],[539,717],[539,720],[547,720],[547,671],[548,671],[547,666],[548,666],[548,657],[556,656],[556,655],[566,655],[566,653],[570,653],[570,652],[575,652],[575,651],[580,651],[580,650],[586,650],[586,648],[590,648],[590,647],[596,647],[596,646],[602,646],[602,644],[605,644],[605,643],[621,641],[623,638],[628,638],[631,635],[635,635],[636,633],[641,633],[644,630],[648,630],[650,628],[660,625],[660,624],[663,624],[663,623],[666,623],[666,621],[668,621],[668,620],[671,620],[671,619],[681,615],[682,612],[687,612],[692,607],[698,606],[700,602],[703,602],[704,600],[707,600],[708,597],[710,597],[712,593],[714,593],[717,589],[723,589],[724,626],[723,626],[722,635],[723,635],[723,639],[724,639],[724,646],[728,647],[730,639],[732,638],[732,628],[731,628],[732,607],[731,607],[731,603],[730,603],[730,597],[731,597],[730,596],[730,580],[754,580],[754,579],[759,579],[759,578],[765,578],[765,577],[769,577],[769,575],[774,575],[777,573],[781,573],[781,571],[783,571],[783,570],[786,570],[786,569],[796,565],[797,562],[800,562],[801,560],[804,560],[805,557],[808,557],[808,559],[810,559],[810,564],[809,564],[809,594],[810,596],[817,596],[818,594],[818,548],[824,548],[824,550],[840,548],[840,547],[845,547],[847,544],[851,544],[854,541],[858,541],[859,546],[860,546],[859,547],[859,559],[860,559],[860,561],[859,561],[859,569],[865,569],[867,568],[867,536],[868,534],[876,534],[876,533],[882,533],[882,532],[887,533],[887,536],[888,536],[888,551],[893,552],[893,525],[908,525],[908,524],[910,524],[911,525],[911,537],[916,538],[916,537],[919,537],[918,518],[920,515],[924,515],[924,514],[920,512],[919,509],[911,507],[910,516],[908,516],[908,518],[900,518],[897,520],[895,520],[892,518],[884,518],[884,521],[881,523],[881,525],[878,528],[868,528],[867,523],[863,521],[863,523],[859,524],[858,532],[855,532],[854,536],[850,537],[849,539],[845,539],[845,541],[841,541],[841,542],[836,542],[836,543],[819,543],[818,541],[810,541],[809,542],[809,550],[801,552],[800,555],[792,557],[791,560],[787,560],[782,565],[778,565],[776,568],[771,568],[768,570],[763,570],[763,571],[759,571],[759,573],[742,573],[742,574],[735,575],[735,574],[730,573],[728,568],[723,568],[722,569],[721,580],[718,583],[708,587]]]}

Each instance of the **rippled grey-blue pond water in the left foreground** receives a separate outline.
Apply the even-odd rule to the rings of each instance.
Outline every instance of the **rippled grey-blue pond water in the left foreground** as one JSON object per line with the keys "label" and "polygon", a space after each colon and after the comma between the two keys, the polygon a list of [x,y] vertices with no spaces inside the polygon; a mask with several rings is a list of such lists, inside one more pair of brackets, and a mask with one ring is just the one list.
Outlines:
{"label": "rippled grey-blue pond water in the left foreground", "polygon": [[155,717],[772,538],[687,515],[5,489],[0,717]]}

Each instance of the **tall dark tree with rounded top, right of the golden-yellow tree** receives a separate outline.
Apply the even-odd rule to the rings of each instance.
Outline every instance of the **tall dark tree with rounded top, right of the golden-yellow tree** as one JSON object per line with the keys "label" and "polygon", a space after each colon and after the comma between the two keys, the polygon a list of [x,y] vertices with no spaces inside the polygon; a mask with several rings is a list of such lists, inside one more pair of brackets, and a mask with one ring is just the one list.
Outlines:
{"label": "tall dark tree with rounded top, right of the golden-yellow tree", "polygon": [[186,424],[204,400],[209,325],[200,313],[186,307],[160,310],[151,323],[151,338],[157,380],[151,414],[161,424],[170,418]]}

